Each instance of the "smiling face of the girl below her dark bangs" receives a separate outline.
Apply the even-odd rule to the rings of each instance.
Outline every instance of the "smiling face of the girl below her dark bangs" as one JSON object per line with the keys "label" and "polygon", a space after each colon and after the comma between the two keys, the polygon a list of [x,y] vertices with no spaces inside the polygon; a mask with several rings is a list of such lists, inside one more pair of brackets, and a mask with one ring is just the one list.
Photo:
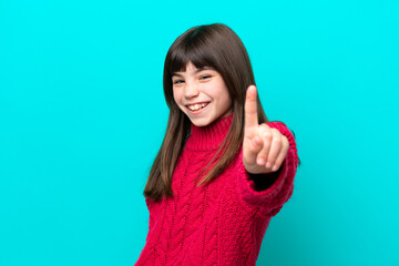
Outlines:
{"label": "smiling face of the girl below her dark bangs", "polygon": [[232,99],[216,70],[188,62],[185,72],[172,74],[172,83],[176,104],[194,125],[205,126],[232,113]]}

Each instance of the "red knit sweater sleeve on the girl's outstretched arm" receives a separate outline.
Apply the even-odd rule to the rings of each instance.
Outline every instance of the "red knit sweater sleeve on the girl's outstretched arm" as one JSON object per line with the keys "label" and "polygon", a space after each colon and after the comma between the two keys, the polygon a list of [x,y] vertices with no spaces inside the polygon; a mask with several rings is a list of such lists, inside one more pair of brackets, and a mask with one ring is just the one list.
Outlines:
{"label": "red knit sweater sleeve on the girl's outstretched arm", "polygon": [[276,215],[293,195],[294,177],[298,165],[298,155],[294,135],[282,122],[269,122],[268,126],[277,129],[289,142],[289,149],[279,170],[269,174],[253,175],[245,170],[243,149],[237,161],[237,187],[241,197],[249,205],[259,207],[267,216]]}

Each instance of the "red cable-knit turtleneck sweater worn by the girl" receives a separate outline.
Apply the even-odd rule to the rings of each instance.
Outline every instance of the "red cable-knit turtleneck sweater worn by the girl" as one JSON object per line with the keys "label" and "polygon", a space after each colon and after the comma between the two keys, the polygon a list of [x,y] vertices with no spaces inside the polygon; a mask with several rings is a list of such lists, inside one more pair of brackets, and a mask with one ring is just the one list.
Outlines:
{"label": "red cable-knit turtleneck sweater worn by the girl", "polygon": [[146,198],[150,229],[136,266],[255,265],[270,218],[293,194],[297,149],[284,123],[269,122],[289,141],[277,172],[250,175],[241,149],[215,180],[196,186],[197,174],[227,135],[232,119],[204,127],[192,124],[173,174],[174,195],[158,202]]}

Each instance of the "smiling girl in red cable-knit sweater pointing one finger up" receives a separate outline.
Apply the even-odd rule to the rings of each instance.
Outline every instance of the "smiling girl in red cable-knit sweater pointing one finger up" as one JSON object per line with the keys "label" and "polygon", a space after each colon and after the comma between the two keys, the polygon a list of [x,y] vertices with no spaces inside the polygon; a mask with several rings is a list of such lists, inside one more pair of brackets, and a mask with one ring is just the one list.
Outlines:
{"label": "smiling girl in red cable-knit sweater pointing one finger up", "polygon": [[293,194],[294,135],[269,122],[241,39],[194,27],[164,65],[166,134],[144,188],[146,244],[135,265],[255,265]]}

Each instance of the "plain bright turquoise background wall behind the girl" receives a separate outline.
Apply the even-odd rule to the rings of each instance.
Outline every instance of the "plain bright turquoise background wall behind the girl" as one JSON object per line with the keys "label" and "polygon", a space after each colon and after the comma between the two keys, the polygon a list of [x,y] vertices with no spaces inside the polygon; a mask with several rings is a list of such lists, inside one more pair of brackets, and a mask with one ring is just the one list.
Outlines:
{"label": "plain bright turquoise background wall behind the girl", "polygon": [[0,265],[133,265],[168,47],[229,25],[303,162],[257,265],[399,265],[398,1],[0,0]]}

